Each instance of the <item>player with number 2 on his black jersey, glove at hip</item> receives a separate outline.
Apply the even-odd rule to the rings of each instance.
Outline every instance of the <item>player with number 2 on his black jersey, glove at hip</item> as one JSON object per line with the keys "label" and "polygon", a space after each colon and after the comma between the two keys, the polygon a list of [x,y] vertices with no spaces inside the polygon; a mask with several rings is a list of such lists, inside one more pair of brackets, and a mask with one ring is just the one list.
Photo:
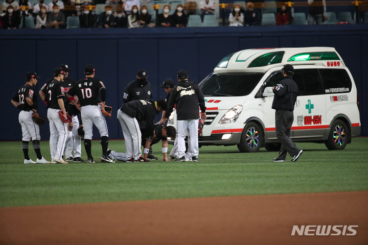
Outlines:
{"label": "player with number 2 on his black jersey, glove at hip", "polygon": [[40,90],[40,96],[47,103],[48,119],[50,121],[50,153],[51,159],[55,162],[66,164],[62,158],[65,149],[66,134],[68,124],[60,119],[59,111],[62,111],[66,118],[64,107],[64,90],[61,82],[64,80],[64,71],[62,68],[54,70],[54,80],[48,85],[45,84]]}

